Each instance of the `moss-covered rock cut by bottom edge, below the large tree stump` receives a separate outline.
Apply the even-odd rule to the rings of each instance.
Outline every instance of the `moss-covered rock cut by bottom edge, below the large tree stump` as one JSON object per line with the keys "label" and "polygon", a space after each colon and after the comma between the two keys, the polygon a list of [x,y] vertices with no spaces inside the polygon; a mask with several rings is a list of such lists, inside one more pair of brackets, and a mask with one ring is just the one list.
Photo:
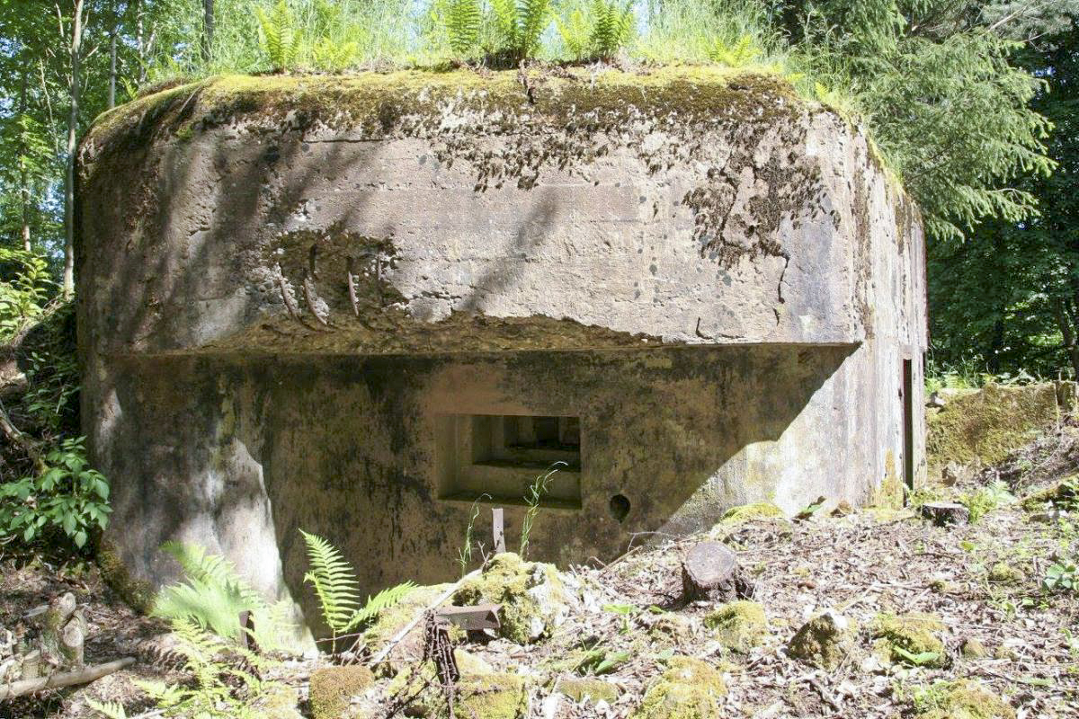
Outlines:
{"label": "moss-covered rock cut by bottom edge, below the large tree stump", "polygon": [[675,656],[652,682],[631,719],[712,719],[727,693],[720,669],[699,659]]}

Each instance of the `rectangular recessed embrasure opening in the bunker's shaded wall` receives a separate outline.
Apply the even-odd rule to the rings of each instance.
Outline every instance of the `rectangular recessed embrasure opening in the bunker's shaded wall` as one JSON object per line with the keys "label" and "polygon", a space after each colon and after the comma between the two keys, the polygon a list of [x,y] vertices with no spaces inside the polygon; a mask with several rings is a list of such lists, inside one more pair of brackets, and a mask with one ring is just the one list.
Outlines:
{"label": "rectangular recessed embrasure opening in the bunker's shaded wall", "polygon": [[536,478],[562,462],[542,504],[581,508],[579,417],[439,415],[436,444],[440,499],[522,504]]}

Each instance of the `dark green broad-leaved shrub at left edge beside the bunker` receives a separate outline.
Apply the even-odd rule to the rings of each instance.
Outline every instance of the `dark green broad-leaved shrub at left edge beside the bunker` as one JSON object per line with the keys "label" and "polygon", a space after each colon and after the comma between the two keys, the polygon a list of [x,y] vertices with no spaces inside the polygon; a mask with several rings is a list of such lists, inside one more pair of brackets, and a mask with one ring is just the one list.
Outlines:
{"label": "dark green broad-leaved shrub at left edge beside the bunker", "polygon": [[108,524],[108,499],[109,483],[88,467],[83,438],[64,440],[36,475],[0,484],[0,537],[31,542],[52,530],[82,549]]}

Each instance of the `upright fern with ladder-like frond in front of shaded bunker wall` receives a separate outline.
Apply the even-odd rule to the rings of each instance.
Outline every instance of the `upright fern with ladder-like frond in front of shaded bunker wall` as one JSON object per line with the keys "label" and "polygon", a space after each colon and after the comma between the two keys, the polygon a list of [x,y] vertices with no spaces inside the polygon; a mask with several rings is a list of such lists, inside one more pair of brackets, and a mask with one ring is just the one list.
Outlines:
{"label": "upright fern with ladder-like frond in front of shaded bunker wall", "polygon": [[303,581],[314,586],[315,596],[323,609],[323,619],[330,628],[333,641],[340,635],[354,632],[378,619],[384,609],[399,603],[415,586],[412,582],[405,582],[382,590],[361,603],[359,581],[341,552],[318,535],[302,529],[300,534],[308,545],[308,561],[311,564]]}

